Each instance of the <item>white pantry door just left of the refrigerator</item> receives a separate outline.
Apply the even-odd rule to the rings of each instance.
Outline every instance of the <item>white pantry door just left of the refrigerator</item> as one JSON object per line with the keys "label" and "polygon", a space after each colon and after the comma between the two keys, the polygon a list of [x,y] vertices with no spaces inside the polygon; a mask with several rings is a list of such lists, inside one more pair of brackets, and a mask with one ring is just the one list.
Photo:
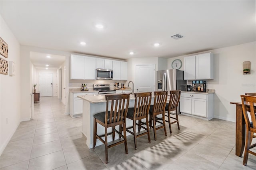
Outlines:
{"label": "white pantry door just left of the refrigerator", "polygon": [[155,91],[154,65],[136,65],[136,90],[134,92]]}

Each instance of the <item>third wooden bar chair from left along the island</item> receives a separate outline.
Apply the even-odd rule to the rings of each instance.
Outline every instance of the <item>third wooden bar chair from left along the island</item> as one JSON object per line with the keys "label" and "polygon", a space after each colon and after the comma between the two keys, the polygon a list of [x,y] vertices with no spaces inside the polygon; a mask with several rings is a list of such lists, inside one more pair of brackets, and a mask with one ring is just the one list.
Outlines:
{"label": "third wooden bar chair from left along the island", "polygon": [[[168,91],[154,91],[154,105],[150,105],[150,127],[154,129],[154,138],[156,140],[156,130],[164,128],[164,134],[167,136],[165,127],[165,106],[167,101]],[[162,115],[162,117],[156,117]],[[160,127],[156,127],[156,123],[162,124]],[[153,124],[153,125],[152,125]]]}

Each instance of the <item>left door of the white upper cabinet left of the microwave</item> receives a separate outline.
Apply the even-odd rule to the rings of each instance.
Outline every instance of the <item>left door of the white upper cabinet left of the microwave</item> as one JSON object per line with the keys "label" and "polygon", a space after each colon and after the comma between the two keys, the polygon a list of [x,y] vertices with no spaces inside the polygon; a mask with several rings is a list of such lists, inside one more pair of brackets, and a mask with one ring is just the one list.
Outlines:
{"label": "left door of the white upper cabinet left of the microwave", "polygon": [[70,79],[84,79],[85,75],[85,56],[71,55]]}

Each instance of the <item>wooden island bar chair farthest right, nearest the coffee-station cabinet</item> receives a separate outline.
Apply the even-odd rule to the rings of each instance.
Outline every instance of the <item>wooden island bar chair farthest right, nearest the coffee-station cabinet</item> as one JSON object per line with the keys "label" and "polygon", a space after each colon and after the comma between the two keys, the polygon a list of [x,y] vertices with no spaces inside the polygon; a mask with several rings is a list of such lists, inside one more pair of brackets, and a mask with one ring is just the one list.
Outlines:
{"label": "wooden island bar chair farthest right, nearest the coffee-station cabinet", "polygon": [[[171,124],[173,123],[177,123],[178,129],[180,130],[179,119],[178,119],[179,102],[180,102],[180,90],[171,90],[169,103],[166,103],[166,107],[165,107],[165,111],[166,111],[165,116],[168,117],[168,120],[165,120],[165,121],[169,123],[170,133],[172,133]],[[176,117],[172,116],[171,111],[175,111]],[[171,119],[175,119],[175,121],[171,122]]]}

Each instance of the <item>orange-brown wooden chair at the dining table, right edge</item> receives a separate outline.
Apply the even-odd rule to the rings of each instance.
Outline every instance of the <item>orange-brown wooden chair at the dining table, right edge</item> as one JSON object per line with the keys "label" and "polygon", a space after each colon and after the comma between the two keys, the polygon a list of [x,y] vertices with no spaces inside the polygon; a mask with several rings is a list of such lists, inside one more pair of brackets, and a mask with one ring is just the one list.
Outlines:
{"label": "orange-brown wooden chair at the dining table, right edge", "polygon": [[[252,138],[253,134],[256,133],[256,117],[255,117],[255,107],[256,107],[256,96],[248,96],[248,95],[241,95],[242,99],[242,109],[243,109],[243,115],[244,120],[246,123],[246,141],[245,141],[245,148],[244,148],[244,160],[243,164],[247,166],[247,160],[248,160],[248,154],[253,154],[256,156],[256,152],[253,152],[250,150],[251,148],[254,148],[256,146],[255,144],[252,144]],[[247,108],[245,102],[247,102],[250,107]],[[250,113],[251,116],[251,122],[249,120],[247,112]]]}

